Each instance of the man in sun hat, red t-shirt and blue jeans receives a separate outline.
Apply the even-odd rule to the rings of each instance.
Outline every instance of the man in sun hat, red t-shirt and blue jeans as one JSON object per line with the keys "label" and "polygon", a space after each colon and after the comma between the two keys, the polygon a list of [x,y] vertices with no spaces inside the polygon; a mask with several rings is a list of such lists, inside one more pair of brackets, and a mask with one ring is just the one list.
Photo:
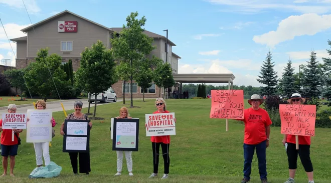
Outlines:
{"label": "man in sun hat, red t-shirt and blue jeans", "polygon": [[252,159],[256,149],[259,173],[262,183],[267,183],[266,148],[269,146],[270,125],[272,124],[266,110],[260,108],[263,99],[260,95],[252,95],[248,103],[252,106],[244,110],[244,178],[241,183],[249,182]]}

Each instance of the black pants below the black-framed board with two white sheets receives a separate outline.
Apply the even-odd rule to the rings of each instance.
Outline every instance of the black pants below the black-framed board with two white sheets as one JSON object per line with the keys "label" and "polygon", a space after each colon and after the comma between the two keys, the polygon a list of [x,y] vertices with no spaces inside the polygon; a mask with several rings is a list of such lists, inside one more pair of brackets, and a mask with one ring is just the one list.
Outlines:
{"label": "black pants below the black-framed board with two white sheets", "polygon": [[69,152],[70,161],[72,170],[74,173],[78,172],[78,162],[77,156],[79,154],[79,172],[80,173],[88,173],[91,171],[90,166],[90,153],[82,153],[82,152]]}

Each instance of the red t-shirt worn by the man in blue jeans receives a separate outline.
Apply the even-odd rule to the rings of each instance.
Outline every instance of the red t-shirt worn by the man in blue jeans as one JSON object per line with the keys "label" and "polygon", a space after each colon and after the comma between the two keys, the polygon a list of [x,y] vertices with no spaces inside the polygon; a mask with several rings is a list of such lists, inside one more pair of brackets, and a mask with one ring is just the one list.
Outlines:
{"label": "red t-shirt worn by the man in blue jeans", "polygon": [[248,108],[244,110],[245,123],[245,144],[258,144],[267,139],[265,127],[272,124],[269,114],[266,110],[259,108],[254,110]]}

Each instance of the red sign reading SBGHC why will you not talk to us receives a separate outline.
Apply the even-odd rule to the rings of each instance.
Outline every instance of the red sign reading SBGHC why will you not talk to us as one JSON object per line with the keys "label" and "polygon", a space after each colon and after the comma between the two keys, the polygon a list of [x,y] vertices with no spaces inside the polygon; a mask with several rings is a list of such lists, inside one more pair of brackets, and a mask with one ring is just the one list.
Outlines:
{"label": "red sign reading SBGHC why will you not talk to us", "polygon": [[281,134],[315,136],[316,105],[280,104]]}

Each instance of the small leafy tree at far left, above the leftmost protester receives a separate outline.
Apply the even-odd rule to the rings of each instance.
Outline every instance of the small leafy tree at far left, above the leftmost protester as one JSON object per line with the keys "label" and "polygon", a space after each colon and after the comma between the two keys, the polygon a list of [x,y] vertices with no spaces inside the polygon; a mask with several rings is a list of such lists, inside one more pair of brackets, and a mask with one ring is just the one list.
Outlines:
{"label": "small leafy tree at far left, above the leftmost protester", "polygon": [[23,78],[24,73],[25,69],[10,69],[4,72],[7,80],[11,83],[11,85],[21,90],[21,100],[23,100],[23,91],[27,91],[27,86]]}

